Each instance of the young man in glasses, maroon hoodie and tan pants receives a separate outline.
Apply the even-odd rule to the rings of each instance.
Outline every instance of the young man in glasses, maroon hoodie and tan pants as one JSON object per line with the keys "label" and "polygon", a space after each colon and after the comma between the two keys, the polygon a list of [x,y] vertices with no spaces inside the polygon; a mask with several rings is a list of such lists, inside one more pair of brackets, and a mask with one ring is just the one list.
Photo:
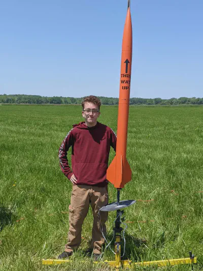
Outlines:
{"label": "young man in glasses, maroon hoodie and tan pants", "polygon": [[[116,134],[111,128],[97,122],[101,102],[95,96],[88,96],[82,102],[84,122],[73,126],[59,148],[60,167],[73,184],[69,206],[69,234],[65,251],[58,259],[73,254],[81,243],[81,230],[87,216],[89,204],[93,213],[92,243],[94,260],[97,260],[105,240],[100,225],[106,234],[105,222],[108,212],[98,210],[108,204],[108,168],[110,146],[116,151]],[[67,161],[67,151],[72,146],[72,170]]]}

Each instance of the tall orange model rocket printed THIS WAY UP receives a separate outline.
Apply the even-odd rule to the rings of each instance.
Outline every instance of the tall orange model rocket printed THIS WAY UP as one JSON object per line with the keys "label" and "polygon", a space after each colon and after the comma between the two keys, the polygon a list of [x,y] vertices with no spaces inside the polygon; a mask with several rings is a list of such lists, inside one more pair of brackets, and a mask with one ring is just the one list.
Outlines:
{"label": "tall orange model rocket printed THIS WAY UP", "polygon": [[131,62],[132,23],[130,15],[130,0],[128,0],[122,41],[116,156],[107,169],[107,179],[114,185],[115,188],[118,189],[123,188],[125,184],[131,180],[132,173],[126,159]]}

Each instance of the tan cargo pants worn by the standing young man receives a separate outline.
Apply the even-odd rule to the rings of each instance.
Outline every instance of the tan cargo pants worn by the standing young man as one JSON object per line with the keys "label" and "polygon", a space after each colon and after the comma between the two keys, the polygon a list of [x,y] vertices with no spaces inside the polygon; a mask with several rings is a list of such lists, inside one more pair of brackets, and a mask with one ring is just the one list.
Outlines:
{"label": "tan cargo pants worn by the standing young man", "polygon": [[[91,204],[93,213],[92,243],[93,253],[100,254],[101,247],[105,240],[101,234],[100,228],[106,235],[105,222],[108,218],[108,212],[100,212],[100,218],[97,216],[98,210],[108,204],[109,195],[107,187],[95,187],[86,185],[75,185],[71,194],[71,205],[69,206],[69,234],[68,243],[65,245],[66,252],[73,252],[81,243],[82,224],[87,216],[89,204]],[[101,223],[101,225],[100,225]]]}

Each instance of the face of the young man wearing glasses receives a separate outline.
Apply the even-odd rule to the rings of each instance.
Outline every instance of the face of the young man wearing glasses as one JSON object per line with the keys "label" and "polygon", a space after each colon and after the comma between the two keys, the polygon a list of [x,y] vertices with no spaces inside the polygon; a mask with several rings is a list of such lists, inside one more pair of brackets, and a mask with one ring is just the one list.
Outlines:
{"label": "face of the young man wearing glasses", "polygon": [[95,126],[97,117],[99,115],[100,115],[100,112],[96,104],[85,102],[84,108],[82,111],[82,116],[84,117],[87,126],[89,127]]}

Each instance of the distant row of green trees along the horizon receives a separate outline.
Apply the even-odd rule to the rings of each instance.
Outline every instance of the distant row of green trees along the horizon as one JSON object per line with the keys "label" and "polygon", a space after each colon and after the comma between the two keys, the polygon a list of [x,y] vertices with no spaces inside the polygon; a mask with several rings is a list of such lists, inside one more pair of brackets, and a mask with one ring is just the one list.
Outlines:
{"label": "distant row of green trees along the horizon", "polygon": [[[118,98],[98,97],[104,105],[118,105]],[[44,97],[39,95],[0,95],[0,103],[6,104],[81,104],[83,97]],[[145,98],[130,98],[130,105],[180,105],[180,104],[203,104],[203,98],[171,98],[171,99],[145,99]]]}

